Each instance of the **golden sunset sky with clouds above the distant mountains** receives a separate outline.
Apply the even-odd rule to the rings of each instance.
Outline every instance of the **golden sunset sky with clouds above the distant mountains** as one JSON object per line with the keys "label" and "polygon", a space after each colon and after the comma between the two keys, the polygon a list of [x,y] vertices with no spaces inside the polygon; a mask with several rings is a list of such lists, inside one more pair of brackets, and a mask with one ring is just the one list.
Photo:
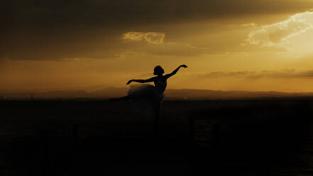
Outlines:
{"label": "golden sunset sky with clouds above the distant mountains", "polygon": [[[313,0],[4,0],[0,89],[313,92]],[[87,89],[88,90],[88,89]]]}

